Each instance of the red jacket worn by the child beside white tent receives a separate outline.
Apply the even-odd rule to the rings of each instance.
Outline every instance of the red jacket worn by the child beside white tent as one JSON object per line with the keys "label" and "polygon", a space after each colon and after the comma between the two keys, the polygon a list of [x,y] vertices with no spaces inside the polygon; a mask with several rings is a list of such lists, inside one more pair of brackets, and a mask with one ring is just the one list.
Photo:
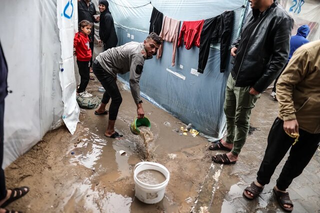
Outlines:
{"label": "red jacket worn by the child beside white tent", "polygon": [[82,32],[74,35],[73,47],[75,48],[75,56],[78,61],[89,61],[92,53],[89,46],[89,38]]}

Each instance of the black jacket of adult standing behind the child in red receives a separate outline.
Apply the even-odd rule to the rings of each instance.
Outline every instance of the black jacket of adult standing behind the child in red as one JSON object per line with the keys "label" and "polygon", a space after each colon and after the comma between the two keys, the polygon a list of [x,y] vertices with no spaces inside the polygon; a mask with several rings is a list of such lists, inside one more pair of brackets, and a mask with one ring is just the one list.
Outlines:
{"label": "black jacket of adult standing behind the child in red", "polygon": [[[96,15],[96,10],[94,3],[89,2],[89,6],[87,6],[84,0],[78,1],[78,23],[82,20],[90,21],[91,23],[97,23],[93,15]],[[91,33],[88,36],[90,42],[93,42],[94,39],[94,25],[92,26]]]}

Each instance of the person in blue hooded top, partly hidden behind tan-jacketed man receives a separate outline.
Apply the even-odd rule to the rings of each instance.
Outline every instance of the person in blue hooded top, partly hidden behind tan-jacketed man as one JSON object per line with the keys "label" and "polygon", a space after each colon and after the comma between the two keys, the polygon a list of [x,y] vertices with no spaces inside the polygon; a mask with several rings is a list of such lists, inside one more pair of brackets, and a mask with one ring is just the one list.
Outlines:
{"label": "person in blue hooded top, partly hidden behind tan-jacketed man", "polygon": [[[291,59],[293,52],[299,48],[300,46],[302,46],[303,44],[306,44],[309,42],[308,39],[306,39],[306,36],[308,36],[310,32],[310,28],[308,25],[302,25],[298,28],[296,35],[291,36],[290,39],[290,53],[289,53],[289,57],[288,57],[288,61]],[[284,68],[282,69],[282,71],[285,69],[286,65],[288,63],[285,64]],[[281,71],[281,73],[282,73]],[[279,76],[281,75],[281,73],[278,75],[278,77],[275,79],[274,84],[273,84],[273,88],[272,88],[272,92],[271,92],[271,96],[274,98],[274,100],[276,100],[276,90],[275,90],[275,85],[276,82],[278,81]]]}

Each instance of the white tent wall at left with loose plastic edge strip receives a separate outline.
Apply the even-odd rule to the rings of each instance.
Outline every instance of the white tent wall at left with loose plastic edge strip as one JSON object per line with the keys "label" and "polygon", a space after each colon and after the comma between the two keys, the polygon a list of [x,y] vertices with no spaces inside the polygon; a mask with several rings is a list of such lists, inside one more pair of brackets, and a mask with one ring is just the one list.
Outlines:
{"label": "white tent wall at left with loose plastic edge strip", "polygon": [[[67,2],[73,4],[70,19],[61,16]],[[70,58],[76,6],[76,0],[1,1],[0,40],[12,90],[5,98],[3,168],[63,121],[75,130],[79,110]]]}

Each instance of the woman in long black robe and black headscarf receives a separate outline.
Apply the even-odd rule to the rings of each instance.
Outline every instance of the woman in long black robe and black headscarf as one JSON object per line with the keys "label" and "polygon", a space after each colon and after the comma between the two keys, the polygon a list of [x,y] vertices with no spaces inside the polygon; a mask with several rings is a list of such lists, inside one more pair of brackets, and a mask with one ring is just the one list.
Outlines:
{"label": "woman in long black robe and black headscarf", "polygon": [[103,43],[103,50],[115,47],[118,38],[116,37],[113,18],[109,11],[109,3],[106,0],[99,0],[100,26],[99,26],[99,44]]}

